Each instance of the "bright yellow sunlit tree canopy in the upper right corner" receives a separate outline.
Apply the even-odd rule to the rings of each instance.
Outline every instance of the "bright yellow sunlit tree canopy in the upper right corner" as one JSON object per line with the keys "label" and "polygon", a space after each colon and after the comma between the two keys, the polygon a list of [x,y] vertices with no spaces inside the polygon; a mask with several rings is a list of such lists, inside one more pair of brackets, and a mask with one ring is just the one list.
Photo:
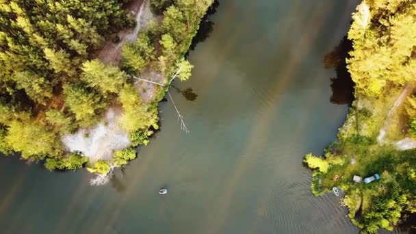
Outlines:
{"label": "bright yellow sunlit tree canopy in the upper right corner", "polygon": [[352,16],[348,71],[363,96],[415,80],[416,5],[404,0],[363,1]]}

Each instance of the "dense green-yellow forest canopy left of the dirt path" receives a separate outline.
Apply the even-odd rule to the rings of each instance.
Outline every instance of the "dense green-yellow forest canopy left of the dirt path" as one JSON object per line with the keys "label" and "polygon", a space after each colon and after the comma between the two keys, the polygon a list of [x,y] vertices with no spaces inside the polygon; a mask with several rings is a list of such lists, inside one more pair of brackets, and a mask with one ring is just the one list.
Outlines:
{"label": "dense green-yellow forest canopy left of the dirt path", "polygon": [[88,60],[109,35],[133,26],[122,5],[116,0],[0,1],[4,153],[20,151],[32,160],[60,157],[60,135],[99,118],[107,93],[118,92],[124,80],[118,68]]}

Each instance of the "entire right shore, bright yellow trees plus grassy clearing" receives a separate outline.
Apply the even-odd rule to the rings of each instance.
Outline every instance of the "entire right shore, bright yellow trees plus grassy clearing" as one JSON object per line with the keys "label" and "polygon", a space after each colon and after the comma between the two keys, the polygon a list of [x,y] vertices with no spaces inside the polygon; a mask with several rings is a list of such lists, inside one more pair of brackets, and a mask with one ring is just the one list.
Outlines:
{"label": "entire right shore, bright yellow trees plus grassy clearing", "polygon": [[[352,14],[345,55],[354,81],[350,112],[324,155],[306,155],[315,196],[339,187],[361,233],[393,230],[416,213],[416,3],[363,1]],[[347,44],[348,44],[347,43]],[[333,67],[343,63],[330,54]],[[380,179],[356,183],[354,176]],[[413,227],[414,228],[414,227]]]}

